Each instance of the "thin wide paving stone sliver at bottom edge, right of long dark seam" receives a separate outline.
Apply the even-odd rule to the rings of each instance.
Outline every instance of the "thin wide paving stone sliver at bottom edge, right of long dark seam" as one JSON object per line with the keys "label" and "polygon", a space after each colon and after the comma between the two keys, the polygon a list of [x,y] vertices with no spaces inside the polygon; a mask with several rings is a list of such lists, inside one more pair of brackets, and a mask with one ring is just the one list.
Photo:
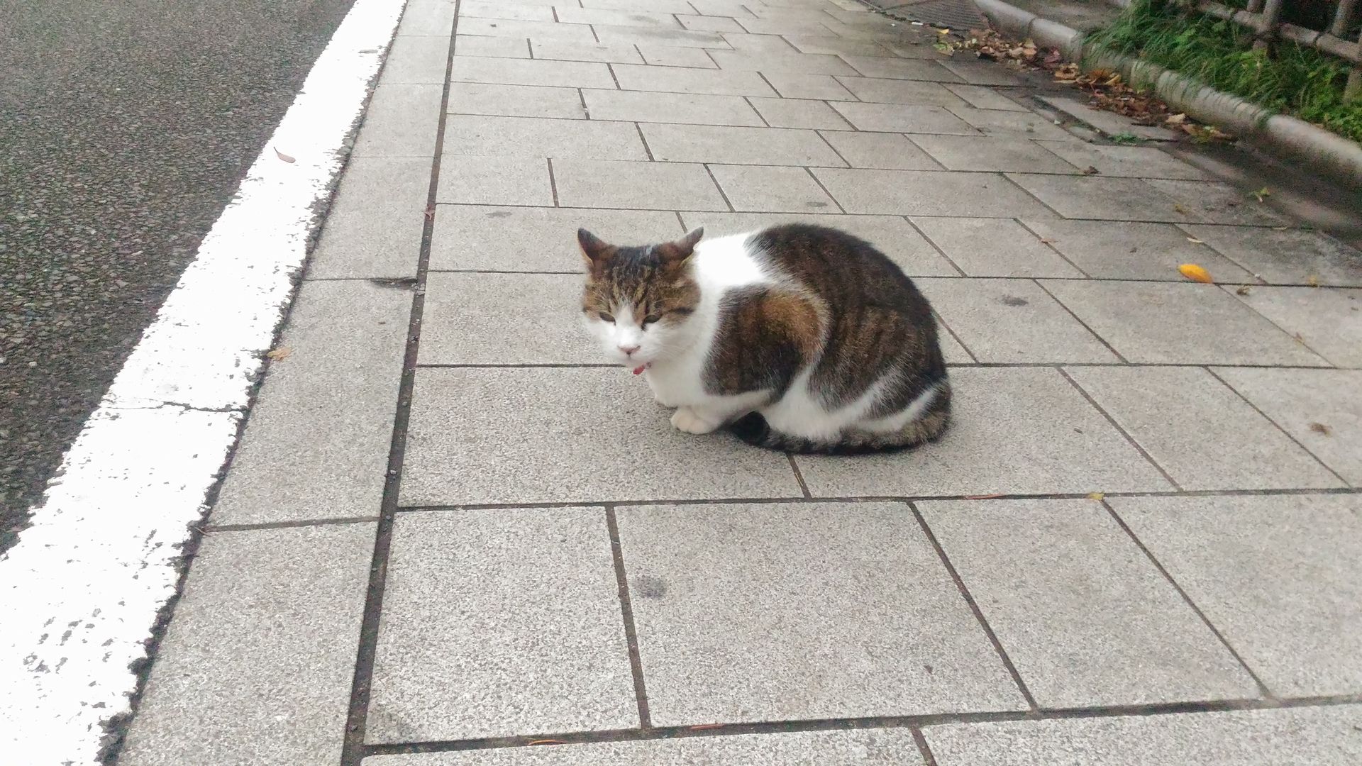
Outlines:
{"label": "thin wide paving stone sliver at bottom edge, right of long dark seam", "polygon": [[370,755],[364,766],[922,766],[908,729],[782,732]]}

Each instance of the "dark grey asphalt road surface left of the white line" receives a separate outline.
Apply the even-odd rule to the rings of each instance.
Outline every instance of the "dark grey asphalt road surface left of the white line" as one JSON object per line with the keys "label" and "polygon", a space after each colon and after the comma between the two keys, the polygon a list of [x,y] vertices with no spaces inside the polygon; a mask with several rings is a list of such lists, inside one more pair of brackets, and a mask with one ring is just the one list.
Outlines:
{"label": "dark grey asphalt road surface left of the white line", "polygon": [[0,0],[0,551],[353,0]]}

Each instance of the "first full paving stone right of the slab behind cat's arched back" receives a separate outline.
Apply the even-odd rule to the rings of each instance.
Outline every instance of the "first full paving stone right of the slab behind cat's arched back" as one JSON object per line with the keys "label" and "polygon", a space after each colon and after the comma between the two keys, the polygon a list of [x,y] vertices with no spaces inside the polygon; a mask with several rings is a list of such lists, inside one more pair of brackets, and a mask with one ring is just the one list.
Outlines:
{"label": "first full paving stone right of the slab behind cat's arched back", "polygon": [[1008,218],[914,218],[922,233],[970,277],[1083,277]]}

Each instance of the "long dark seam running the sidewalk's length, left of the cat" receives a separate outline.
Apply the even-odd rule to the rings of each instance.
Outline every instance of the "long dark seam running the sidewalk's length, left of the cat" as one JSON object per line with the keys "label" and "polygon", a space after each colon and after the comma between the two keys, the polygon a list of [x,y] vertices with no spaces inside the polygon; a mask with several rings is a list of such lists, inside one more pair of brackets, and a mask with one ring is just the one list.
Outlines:
{"label": "long dark seam running the sidewalk's length, left of the cat", "polygon": [[[454,25],[449,30],[449,50],[445,56],[445,76],[440,95],[440,112],[436,117],[434,155],[430,164],[430,183],[426,191],[426,209],[436,210],[436,196],[440,188],[440,165],[444,158],[444,131],[448,120],[451,75],[454,72],[454,46],[459,30],[459,5],[455,0]],[[434,215],[426,215],[421,230],[419,255],[417,259],[415,289],[411,296],[411,313],[407,322],[406,350],[402,360],[402,378],[398,384],[396,412],[392,418],[392,440],[388,453],[387,481],[383,487],[380,517],[373,541],[373,559],[369,568],[369,583],[365,592],[364,615],[360,622],[358,647],[355,652],[354,675],[350,684],[350,703],[346,713],[340,746],[340,766],[360,766],[365,755],[365,732],[369,718],[369,698],[373,683],[373,661],[379,641],[379,624],[383,613],[383,590],[387,585],[388,556],[392,547],[392,526],[396,521],[399,491],[402,487],[402,466],[406,457],[407,424],[411,418],[411,395],[415,388],[417,352],[421,339],[421,319],[425,308],[426,270],[430,262],[430,241],[434,234]]]}

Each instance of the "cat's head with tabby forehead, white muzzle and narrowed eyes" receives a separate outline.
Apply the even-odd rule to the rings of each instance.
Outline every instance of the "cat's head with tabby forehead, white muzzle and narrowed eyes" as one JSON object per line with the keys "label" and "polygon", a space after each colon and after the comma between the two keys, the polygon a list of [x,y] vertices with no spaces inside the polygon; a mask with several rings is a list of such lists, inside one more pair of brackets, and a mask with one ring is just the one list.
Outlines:
{"label": "cat's head with tabby forehead, white muzzle and narrowed eyes", "polygon": [[700,304],[691,255],[704,229],[656,245],[620,247],[577,229],[587,260],[582,313],[606,357],[625,367],[666,358],[691,341]]}

